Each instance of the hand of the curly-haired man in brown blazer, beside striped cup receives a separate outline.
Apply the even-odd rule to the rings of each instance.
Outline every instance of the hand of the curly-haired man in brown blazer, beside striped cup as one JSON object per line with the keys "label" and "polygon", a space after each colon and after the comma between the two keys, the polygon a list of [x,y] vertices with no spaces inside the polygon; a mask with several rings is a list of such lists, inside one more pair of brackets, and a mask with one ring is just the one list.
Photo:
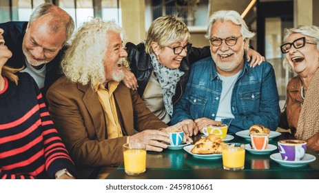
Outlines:
{"label": "hand of the curly-haired man in brown blazer, beside striped cup", "polygon": [[167,144],[161,143],[164,141],[169,143],[169,134],[163,130],[144,130],[130,136],[130,143],[145,143],[147,151],[161,152],[167,148]]}

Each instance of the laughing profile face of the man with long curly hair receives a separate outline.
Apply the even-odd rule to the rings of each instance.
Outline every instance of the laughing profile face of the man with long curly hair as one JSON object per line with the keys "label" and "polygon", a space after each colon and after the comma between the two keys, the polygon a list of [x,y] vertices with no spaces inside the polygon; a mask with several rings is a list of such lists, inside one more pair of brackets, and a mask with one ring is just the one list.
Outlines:
{"label": "laughing profile face of the man with long curly hair", "polygon": [[121,81],[124,78],[122,64],[127,52],[122,46],[122,39],[119,33],[107,32],[107,51],[105,54],[104,70],[105,70],[105,85],[108,81]]}

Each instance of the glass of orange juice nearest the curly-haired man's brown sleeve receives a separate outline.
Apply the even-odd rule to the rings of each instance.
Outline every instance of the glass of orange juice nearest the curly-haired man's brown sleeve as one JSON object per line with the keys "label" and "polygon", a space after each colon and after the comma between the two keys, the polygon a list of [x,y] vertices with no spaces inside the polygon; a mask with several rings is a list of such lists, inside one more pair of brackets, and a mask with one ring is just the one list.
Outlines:
{"label": "glass of orange juice nearest the curly-haired man's brown sleeve", "polygon": [[125,173],[143,174],[146,170],[146,145],[144,143],[125,143],[123,145]]}

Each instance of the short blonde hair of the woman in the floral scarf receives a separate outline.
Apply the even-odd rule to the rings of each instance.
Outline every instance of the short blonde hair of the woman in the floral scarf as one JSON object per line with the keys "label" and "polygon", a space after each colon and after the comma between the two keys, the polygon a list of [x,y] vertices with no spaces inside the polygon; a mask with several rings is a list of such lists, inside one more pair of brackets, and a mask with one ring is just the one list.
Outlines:
{"label": "short blonde hair of the woman in the floral scarf", "polygon": [[155,19],[149,30],[145,41],[145,52],[152,54],[152,42],[158,43],[160,49],[172,43],[189,41],[190,34],[186,24],[176,15],[166,15]]}

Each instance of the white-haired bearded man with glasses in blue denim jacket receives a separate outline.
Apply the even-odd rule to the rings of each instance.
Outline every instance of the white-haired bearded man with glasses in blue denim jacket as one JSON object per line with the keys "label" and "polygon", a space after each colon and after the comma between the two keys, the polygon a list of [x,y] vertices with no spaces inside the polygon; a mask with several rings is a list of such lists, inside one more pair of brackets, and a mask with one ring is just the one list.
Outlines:
{"label": "white-haired bearded man with glasses in blue denim jacket", "polygon": [[246,53],[254,33],[240,14],[215,12],[209,17],[205,37],[212,57],[192,66],[185,94],[174,107],[172,124],[188,120],[200,132],[207,125],[221,123],[228,125],[228,133],[254,124],[276,130],[280,108],[274,68],[267,61],[250,68]]}

